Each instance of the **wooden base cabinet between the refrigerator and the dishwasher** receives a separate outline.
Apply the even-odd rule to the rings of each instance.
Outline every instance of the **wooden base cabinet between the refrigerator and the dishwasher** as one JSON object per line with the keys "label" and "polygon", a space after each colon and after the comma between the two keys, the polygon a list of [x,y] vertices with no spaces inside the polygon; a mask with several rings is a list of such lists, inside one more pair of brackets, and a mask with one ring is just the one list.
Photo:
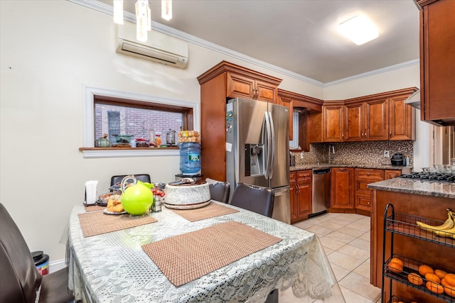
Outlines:
{"label": "wooden base cabinet between the refrigerator and the dishwasher", "polygon": [[291,223],[308,219],[311,214],[313,188],[311,170],[290,172]]}

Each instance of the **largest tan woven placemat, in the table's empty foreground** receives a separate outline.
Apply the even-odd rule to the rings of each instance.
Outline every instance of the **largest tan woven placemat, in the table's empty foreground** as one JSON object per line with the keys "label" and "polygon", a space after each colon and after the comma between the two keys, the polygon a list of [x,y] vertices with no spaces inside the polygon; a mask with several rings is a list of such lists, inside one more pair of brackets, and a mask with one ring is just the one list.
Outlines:
{"label": "largest tan woven placemat, in the table's empty foreground", "polygon": [[181,286],[282,241],[237,221],[142,246],[173,285]]}

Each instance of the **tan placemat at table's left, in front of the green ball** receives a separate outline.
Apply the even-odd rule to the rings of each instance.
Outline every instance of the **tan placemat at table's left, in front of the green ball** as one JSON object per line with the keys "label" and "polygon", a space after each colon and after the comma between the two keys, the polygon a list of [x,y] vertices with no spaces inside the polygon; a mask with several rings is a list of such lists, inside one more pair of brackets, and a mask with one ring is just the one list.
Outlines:
{"label": "tan placemat at table's left, in front of the green ball", "polygon": [[130,214],[112,215],[105,214],[103,211],[92,211],[78,214],[78,216],[84,237],[156,222],[156,219],[148,214],[144,216],[132,216]]}

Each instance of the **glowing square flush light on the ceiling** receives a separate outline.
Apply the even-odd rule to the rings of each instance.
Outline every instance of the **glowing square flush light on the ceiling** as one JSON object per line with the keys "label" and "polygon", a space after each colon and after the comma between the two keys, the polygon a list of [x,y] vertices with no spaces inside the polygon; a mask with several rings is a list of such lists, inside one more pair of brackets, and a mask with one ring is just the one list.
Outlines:
{"label": "glowing square flush light on the ceiling", "polygon": [[355,16],[338,26],[338,31],[353,43],[362,45],[378,38],[378,28],[365,16]]}

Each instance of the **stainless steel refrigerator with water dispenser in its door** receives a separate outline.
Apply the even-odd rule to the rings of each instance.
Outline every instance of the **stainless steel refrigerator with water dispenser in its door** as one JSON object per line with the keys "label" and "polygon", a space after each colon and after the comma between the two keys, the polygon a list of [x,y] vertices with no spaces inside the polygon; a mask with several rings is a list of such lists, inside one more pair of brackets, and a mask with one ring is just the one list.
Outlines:
{"label": "stainless steel refrigerator with water dispenser in its door", "polygon": [[291,223],[289,204],[289,109],[235,98],[226,104],[226,180],[274,190],[273,218]]}

